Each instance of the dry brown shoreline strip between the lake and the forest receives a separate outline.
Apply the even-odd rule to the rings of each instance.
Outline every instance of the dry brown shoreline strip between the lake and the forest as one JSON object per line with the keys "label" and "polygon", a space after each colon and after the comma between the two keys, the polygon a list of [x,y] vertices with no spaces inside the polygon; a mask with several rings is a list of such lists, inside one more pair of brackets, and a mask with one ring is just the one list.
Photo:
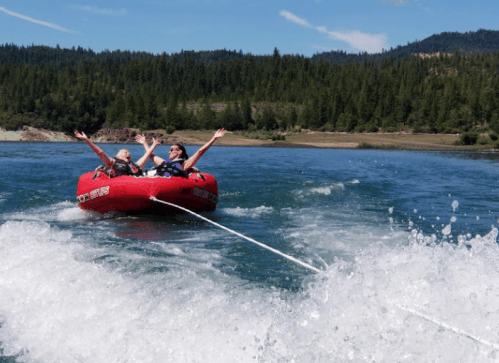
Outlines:
{"label": "dry brown shoreline strip between the lake and the forest", "polygon": [[[135,144],[138,129],[101,129],[90,138],[95,143]],[[203,145],[213,135],[213,131],[175,131],[168,135],[163,130],[145,131],[148,140],[156,138],[163,144],[181,143]],[[261,133],[260,135],[263,135]],[[258,135],[258,134],[257,134]],[[454,145],[459,140],[456,134],[410,134],[410,133],[362,133],[309,131],[284,134],[285,140],[272,141],[248,138],[242,133],[227,132],[217,140],[218,146],[262,146],[290,148],[328,149],[387,149],[387,150],[435,150],[435,151],[494,151],[494,145]],[[0,128],[0,142],[77,142],[72,136],[62,132],[36,129],[30,126],[18,131]]]}

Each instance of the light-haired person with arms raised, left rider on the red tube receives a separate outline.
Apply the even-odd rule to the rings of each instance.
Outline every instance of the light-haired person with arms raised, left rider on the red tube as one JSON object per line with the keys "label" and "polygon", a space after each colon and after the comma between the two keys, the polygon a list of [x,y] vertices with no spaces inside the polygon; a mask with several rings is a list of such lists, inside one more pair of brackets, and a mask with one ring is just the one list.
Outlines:
{"label": "light-haired person with arms raised, left rider on the red tube", "polygon": [[104,162],[102,171],[109,175],[109,177],[118,177],[123,175],[142,176],[142,168],[145,166],[147,159],[149,159],[153,150],[146,153],[136,162],[131,161],[131,155],[127,149],[118,151],[114,158],[110,158],[106,153],[95,145],[84,132],[75,131],[75,137],[85,141],[88,146],[97,154],[97,156]]}

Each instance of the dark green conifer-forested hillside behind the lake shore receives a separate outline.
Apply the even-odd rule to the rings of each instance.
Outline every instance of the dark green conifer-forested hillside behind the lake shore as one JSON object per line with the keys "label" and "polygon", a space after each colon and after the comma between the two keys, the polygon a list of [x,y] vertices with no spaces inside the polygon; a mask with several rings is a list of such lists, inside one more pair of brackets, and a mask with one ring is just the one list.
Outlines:
{"label": "dark green conifer-forested hillside behind the lake shore", "polygon": [[[277,49],[152,55],[5,45],[0,126],[499,131],[498,71],[499,53],[490,52],[330,62]],[[215,112],[215,103],[226,107]]]}

